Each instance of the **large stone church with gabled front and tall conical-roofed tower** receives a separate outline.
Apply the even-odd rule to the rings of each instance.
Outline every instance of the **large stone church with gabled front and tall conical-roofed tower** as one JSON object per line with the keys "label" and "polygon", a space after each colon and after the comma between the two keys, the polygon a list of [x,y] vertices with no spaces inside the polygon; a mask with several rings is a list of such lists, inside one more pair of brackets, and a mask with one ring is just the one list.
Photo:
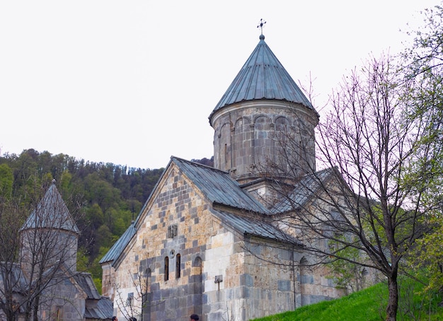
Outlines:
{"label": "large stone church with gabled front and tall conical-roofed tower", "polygon": [[[214,168],[171,157],[137,219],[100,261],[115,315],[243,321],[341,296],[297,236],[266,220],[284,207],[275,187],[297,189],[315,168],[318,113],[263,34],[209,123]],[[304,141],[285,154],[297,164],[297,182],[267,167],[284,154],[276,137],[289,130]]]}

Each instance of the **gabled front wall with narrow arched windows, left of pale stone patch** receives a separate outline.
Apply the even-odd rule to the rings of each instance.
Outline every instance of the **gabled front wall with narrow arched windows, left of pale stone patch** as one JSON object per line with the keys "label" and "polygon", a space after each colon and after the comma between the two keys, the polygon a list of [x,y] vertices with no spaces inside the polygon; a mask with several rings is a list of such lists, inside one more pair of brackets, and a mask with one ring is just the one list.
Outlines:
{"label": "gabled front wall with narrow arched windows, left of pale stone patch", "polygon": [[[125,257],[117,262],[114,305],[122,317],[137,317],[143,310],[145,321],[185,320],[202,313],[205,250],[213,220],[202,195],[175,166],[159,186]],[[133,311],[128,297],[133,297]]]}

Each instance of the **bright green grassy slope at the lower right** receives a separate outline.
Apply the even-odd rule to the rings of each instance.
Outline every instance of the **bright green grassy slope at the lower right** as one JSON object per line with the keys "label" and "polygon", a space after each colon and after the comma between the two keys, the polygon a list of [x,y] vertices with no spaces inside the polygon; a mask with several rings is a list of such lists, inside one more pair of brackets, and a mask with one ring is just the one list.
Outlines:
{"label": "bright green grassy slope at the lower right", "polygon": [[[401,286],[401,300],[397,320],[443,321],[443,308],[437,303],[442,298],[433,296],[423,300],[420,284],[404,281]],[[380,321],[384,320],[388,291],[386,284],[376,284],[337,300],[306,305],[295,311],[255,319],[255,321]]]}

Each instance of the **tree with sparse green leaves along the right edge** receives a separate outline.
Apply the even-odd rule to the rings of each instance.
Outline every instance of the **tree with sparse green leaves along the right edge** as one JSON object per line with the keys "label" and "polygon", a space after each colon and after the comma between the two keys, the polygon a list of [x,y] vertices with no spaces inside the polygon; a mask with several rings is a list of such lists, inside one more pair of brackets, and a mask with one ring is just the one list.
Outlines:
{"label": "tree with sparse green leaves along the right edge", "polygon": [[[409,115],[425,127],[419,150],[426,155],[429,179],[419,182],[425,190],[423,203],[427,223],[432,226],[415,247],[412,267],[427,272],[428,291],[443,289],[443,7],[424,11],[425,25],[410,33],[413,45],[403,52],[403,72],[407,81],[413,80]],[[413,168],[410,175],[421,177],[421,168]]]}

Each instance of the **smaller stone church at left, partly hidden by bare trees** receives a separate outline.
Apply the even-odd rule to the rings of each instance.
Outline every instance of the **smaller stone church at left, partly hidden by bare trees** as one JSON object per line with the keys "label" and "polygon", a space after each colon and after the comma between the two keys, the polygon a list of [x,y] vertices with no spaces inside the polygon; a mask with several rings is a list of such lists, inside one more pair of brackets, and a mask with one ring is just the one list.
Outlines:
{"label": "smaller stone church at left, partly hidden by bare trees", "polygon": [[80,231],[55,181],[18,235],[17,261],[0,266],[0,320],[111,320],[113,303],[76,269]]}

